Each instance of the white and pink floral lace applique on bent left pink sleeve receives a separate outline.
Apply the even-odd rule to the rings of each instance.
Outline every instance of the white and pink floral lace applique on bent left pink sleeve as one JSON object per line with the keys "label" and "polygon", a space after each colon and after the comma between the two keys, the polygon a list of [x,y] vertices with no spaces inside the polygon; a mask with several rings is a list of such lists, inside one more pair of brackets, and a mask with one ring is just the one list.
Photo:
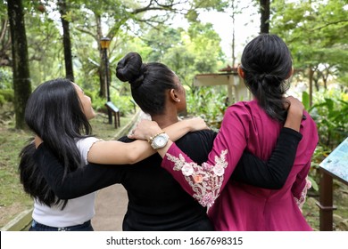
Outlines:
{"label": "white and pink floral lace applique on bent left pink sleeve", "polygon": [[182,154],[174,157],[167,153],[166,156],[168,160],[175,164],[173,170],[181,171],[185,176],[186,181],[195,192],[193,197],[201,205],[209,208],[214,204],[215,199],[219,197],[225,168],[228,166],[228,162],[226,162],[227,153],[228,149],[222,150],[220,157],[215,157],[215,165],[203,163],[202,166],[187,163]]}

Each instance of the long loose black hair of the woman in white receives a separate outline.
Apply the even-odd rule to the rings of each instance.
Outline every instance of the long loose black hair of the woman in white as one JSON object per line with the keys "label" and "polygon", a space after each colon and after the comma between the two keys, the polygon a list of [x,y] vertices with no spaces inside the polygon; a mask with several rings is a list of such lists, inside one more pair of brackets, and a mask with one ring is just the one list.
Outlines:
{"label": "long loose black hair of the woman in white", "polygon": [[[29,97],[24,117],[29,128],[62,161],[64,177],[84,164],[76,141],[90,135],[92,128],[70,80],[58,78],[39,85]],[[48,206],[58,205],[60,200],[54,196],[37,165],[30,158],[35,152],[33,146],[30,142],[20,154],[21,183],[24,190],[39,202]],[[63,202],[62,208],[66,204],[67,200]]]}

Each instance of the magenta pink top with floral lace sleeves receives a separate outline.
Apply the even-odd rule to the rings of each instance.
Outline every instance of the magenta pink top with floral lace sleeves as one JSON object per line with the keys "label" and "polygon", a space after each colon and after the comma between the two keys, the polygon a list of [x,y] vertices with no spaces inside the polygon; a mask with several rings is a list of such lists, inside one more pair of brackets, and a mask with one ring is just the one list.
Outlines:
{"label": "magenta pink top with floral lace sleeves", "polygon": [[311,230],[301,207],[311,187],[307,175],[318,133],[311,116],[305,115],[294,167],[282,189],[261,189],[229,180],[244,149],[267,160],[282,128],[283,124],[271,119],[256,100],[238,102],[227,109],[206,163],[196,165],[173,144],[162,167],[188,194],[209,207],[216,230]]}

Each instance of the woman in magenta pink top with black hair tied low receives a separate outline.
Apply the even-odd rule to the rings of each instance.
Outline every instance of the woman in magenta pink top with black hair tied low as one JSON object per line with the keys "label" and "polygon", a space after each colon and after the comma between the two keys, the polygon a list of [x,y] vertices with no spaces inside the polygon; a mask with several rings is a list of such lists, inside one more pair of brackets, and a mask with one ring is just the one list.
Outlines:
{"label": "woman in magenta pink top with black hair tied low", "polygon": [[[291,54],[275,35],[254,38],[245,46],[241,62],[239,75],[254,100],[237,102],[227,109],[208,162],[196,165],[169,141],[158,149],[162,166],[187,193],[209,207],[216,230],[311,230],[301,207],[311,187],[307,175],[318,133],[307,112],[298,127],[302,141],[283,188],[261,189],[230,178],[245,149],[263,160],[271,155],[286,120],[286,79],[293,73]],[[161,131],[149,122],[143,128],[138,127],[138,138]]]}

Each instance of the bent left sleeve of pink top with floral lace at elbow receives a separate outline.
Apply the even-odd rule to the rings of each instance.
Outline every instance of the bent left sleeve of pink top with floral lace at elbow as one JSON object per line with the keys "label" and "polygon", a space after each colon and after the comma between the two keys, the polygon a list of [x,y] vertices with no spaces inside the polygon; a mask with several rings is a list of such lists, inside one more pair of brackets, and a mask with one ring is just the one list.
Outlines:
{"label": "bent left sleeve of pink top with floral lace at elbow", "polygon": [[249,119],[244,104],[228,108],[207,162],[195,164],[173,144],[163,158],[162,167],[201,205],[211,207],[243,154]]}

